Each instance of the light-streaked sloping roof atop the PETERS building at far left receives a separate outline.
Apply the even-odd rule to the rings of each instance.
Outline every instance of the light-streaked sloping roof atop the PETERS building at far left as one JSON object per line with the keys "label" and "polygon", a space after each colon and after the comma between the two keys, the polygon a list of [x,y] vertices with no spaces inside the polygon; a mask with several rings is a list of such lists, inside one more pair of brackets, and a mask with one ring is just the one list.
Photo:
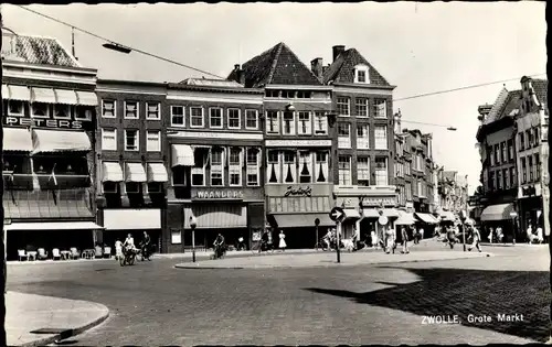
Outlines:
{"label": "light-streaked sloping roof atop the PETERS building at far left", "polygon": [[2,59],[29,64],[82,67],[56,39],[2,33]]}

